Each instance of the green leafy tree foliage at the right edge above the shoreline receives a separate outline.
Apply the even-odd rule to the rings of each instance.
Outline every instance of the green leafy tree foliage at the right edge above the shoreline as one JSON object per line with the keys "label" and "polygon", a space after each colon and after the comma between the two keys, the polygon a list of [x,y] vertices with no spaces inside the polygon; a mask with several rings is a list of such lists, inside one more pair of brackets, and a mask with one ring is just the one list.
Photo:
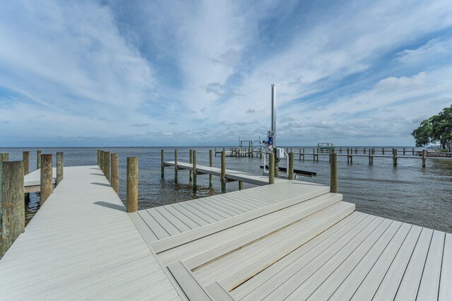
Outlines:
{"label": "green leafy tree foliage at the right edge above the shoreline", "polygon": [[444,148],[450,148],[452,141],[452,105],[438,114],[425,119],[420,126],[412,131],[416,146],[421,147],[429,143],[441,143]]}

